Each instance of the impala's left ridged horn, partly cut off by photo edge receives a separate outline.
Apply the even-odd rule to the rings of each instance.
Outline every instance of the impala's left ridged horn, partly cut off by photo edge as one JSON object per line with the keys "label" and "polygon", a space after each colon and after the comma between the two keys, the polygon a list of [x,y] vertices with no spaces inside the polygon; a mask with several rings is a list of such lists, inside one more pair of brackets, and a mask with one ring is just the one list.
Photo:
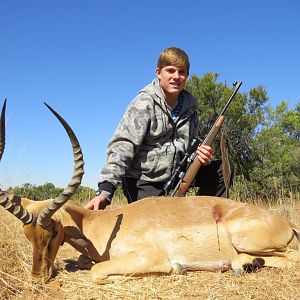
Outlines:
{"label": "impala's left ridged horn, partly cut off by photo edge", "polygon": [[[6,99],[4,100],[1,116],[0,116],[0,161],[5,149],[5,110]],[[27,211],[20,203],[11,202],[9,194],[0,189],[0,205],[2,205],[7,211],[20,219],[23,224],[29,224],[33,220],[33,214]]]}

